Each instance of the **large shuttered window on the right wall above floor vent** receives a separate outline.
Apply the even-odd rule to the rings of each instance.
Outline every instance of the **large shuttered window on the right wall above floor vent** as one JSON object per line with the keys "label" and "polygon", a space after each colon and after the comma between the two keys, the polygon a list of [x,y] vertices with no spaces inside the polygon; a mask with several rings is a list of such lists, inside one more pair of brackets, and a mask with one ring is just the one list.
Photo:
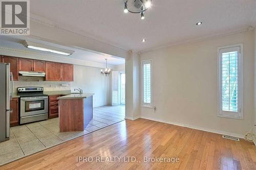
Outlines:
{"label": "large shuttered window on the right wall above floor vent", "polygon": [[243,45],[219,48],[219,116],[243,118]]}

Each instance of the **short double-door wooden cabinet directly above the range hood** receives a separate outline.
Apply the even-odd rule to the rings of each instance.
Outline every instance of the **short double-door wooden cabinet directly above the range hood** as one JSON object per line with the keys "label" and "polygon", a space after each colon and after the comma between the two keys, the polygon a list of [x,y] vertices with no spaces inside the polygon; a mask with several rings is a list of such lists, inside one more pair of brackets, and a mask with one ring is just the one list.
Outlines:
{"label": "short double-door wooden cabinet directly above the range hood", "polygon": [[45,72],[46,62],[40,60],[19,58],[19,71]]}

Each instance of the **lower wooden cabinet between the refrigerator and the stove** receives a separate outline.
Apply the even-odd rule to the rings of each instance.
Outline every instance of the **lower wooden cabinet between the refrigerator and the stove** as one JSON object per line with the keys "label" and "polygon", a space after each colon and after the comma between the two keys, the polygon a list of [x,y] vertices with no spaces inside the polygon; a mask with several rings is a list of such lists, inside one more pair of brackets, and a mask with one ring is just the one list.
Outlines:
{"label": "lower wooden cabinet between the refrigerator and the stove", "polygon": [[19,108],[18,98],[13,98],[10,101],[10,127],[19,125]]}

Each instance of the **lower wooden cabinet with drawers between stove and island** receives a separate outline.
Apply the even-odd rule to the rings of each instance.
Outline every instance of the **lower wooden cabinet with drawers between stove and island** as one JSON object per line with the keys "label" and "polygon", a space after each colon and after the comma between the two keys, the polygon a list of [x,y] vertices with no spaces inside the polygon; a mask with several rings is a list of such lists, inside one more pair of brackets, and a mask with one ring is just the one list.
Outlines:
{"label": "lower wooden cabinet with drawers between stove and island", "polygon": [[49,118],[56,118],[59,116],[59,98],[61,95],[49,96]]}

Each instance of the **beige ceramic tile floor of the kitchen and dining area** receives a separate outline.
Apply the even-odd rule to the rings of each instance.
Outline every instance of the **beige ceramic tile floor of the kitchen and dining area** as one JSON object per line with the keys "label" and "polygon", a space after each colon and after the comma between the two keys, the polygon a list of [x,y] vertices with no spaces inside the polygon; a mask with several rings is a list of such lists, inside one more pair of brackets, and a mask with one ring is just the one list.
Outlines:
{"label": "beige ceramic tile floor of the kitchen and dining area", "polygon": [[125,107],[101,106],[93,108],[93,119],[80,132],[59,132],[59,119],[10,128],[10,140],[0,142],[0,165],[25,157],[100,128],[124,120]]}

